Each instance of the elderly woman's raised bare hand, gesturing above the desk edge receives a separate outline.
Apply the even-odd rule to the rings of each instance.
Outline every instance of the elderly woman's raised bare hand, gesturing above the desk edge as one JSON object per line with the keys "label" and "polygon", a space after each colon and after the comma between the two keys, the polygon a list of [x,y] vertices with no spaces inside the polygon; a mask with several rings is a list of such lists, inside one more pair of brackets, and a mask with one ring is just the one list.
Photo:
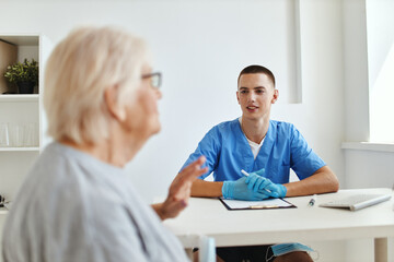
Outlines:
{"label": "elderly woman's raised bare hand, gesturing above the desk edge", "polygon": [[162,221],[177,216],[187,206],[193,182],[208,171],[207,167],[201,168],[205,162],[205,156],[200,156],[185,167],[171,183],[166,200],[152,205]]}

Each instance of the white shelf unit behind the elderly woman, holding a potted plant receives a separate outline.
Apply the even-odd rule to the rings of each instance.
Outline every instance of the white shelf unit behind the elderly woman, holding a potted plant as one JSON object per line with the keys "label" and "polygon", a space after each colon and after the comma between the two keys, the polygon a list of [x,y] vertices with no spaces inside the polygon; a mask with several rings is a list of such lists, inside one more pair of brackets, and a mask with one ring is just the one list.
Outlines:
{"label": "white shelf unit behind the elderly woman, holding a potted plant", "polygon": [[[3,146],[0,147],[0,194],[5,200],[13,200],[25,178],[28,169],[37,159],[44,146],[45,119],[42,106],[44,64],[49,55],[49,41],[39,34],[1,34],[0,39],[18,46],[18,61],[25,58],[38,61],[38,87],[34,94],[0,94],[0,122],[5,123],[35,123],[35,146]],[[1,59],[1,57],[0,57]],[[2,69],[3,70],[3,69]],[[0,78],[3,78],[1,72]],[[9,130],[12,132],[12,130]],[[12,134],[10,134],[11,136]],[[1,213],[7,213],[2,210]],[[0,214],[1,214],[0,213]]]}

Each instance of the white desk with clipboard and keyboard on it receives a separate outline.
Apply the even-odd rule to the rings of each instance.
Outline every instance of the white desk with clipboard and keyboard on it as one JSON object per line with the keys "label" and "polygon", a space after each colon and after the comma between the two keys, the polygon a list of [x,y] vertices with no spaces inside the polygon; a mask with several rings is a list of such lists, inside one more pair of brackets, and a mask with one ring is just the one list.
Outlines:
{"label": "white desk with clipboard and keyboard on it", "polygon": [[354,193],[392,193],[391,189],[340,190],[311,196],[288,198],[298,209],[228,211],[217,199],[192,198],[189,206],[164,225],[185,248],[196,247],[197,236],[213,237],[217,247],[291,241],[374,238],[375,261],[387,261],[387,237],[394,237],[394,195],[390,201],[357,212],[318,207],[320,203]]}

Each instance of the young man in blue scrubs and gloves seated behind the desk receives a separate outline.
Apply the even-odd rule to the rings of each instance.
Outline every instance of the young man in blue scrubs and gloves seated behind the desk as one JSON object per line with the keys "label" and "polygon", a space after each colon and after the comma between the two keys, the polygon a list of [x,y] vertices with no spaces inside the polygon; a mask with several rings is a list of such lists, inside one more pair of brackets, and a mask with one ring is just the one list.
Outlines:
{"label": "young man in blue scrubs and gloves seated behind the desk", "polygon": [[[184,165],[201,155],[207,157],[208,171],[193,183],[193,196],[263,200],[338,190],[335,174],[312,151],[296,127],[270,120],[271,105],[278,97],[270,70],[250,66],[241,71],[236,99],[242,117],[209,130]],[[300,181],[289,182],[290,168]],[[241,169],[250,177],[246,178]],[[211,172],[215,181],[205,181]],[[262,258],[266,258],[267,247],[218,249],[218,255],[224,261],[264,261]],[[274,261],[287,259],[312,261],[300,251],[277,257]]]}

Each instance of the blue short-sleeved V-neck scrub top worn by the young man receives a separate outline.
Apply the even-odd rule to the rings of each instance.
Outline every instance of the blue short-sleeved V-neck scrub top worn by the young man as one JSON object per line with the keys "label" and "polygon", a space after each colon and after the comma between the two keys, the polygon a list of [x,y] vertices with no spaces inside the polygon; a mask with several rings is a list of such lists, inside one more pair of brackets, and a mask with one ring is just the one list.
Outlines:
{"label": "blue short-sleeved V-neck scrub top worn by the young man", "polygon": [[200,179],[213,171],[215,181],[237,180],[243,176],[241,169],[252,172],[265,168],[266,178],[275,183],[287,183],[290,168],[301,180],[326,165],[293,124],[275,120],[269,121],[268,132],[256,159],[239,119],[219,123],[209,130],[182,169],[200,155],[207,157],[205,166],[208,167]]}

